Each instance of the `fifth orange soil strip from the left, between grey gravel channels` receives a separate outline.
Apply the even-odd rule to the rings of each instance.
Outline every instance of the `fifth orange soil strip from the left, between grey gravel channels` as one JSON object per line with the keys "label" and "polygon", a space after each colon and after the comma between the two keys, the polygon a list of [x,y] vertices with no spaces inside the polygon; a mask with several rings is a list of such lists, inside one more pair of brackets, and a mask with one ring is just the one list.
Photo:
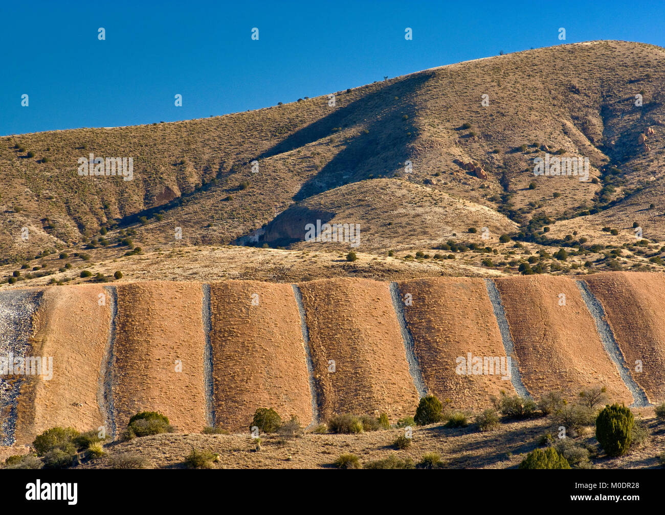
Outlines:
{"label": "fifth orange soil strip from the left, between grey gravel channels", "polygon": [[[428,391],[450,399],[452,407],[484,409],[501,390],[515,395],[501,375],[456,373],[456,359],[505,356],[487,288],[482,279],[429,278],[399,283],[402,298],[411,294],[404,312]],[[466,371],[466,367],[464,367]]]}

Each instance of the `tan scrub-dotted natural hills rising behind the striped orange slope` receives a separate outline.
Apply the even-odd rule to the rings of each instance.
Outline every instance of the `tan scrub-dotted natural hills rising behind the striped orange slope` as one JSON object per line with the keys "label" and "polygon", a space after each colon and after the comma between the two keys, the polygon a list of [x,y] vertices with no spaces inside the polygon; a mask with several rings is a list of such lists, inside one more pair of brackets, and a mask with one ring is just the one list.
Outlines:
{"label": "tan scrub-dotted natural hills rising behind the striped orange slope", "polygon": [[[391,280],[662,270],[664,84],[664,49],[594,41],[388,78],[334,92],[334,105],[326,95],[5,136],[0,287],[147,274],[142,255],[227,244],[269,247],[275,277],[239,278],[273,282],[300,280],[285,278],[293,266],[321,278],[274,249],[390,254],[404,275],[363,276]],[[132,179],[79,175],[90,154],[132,157]],[[589,180],[534,175],[537,158],[588,159]],[[317,221],[359,227],[359,238],[305,241]],[[437,273],[419,270],[428,258]]]}

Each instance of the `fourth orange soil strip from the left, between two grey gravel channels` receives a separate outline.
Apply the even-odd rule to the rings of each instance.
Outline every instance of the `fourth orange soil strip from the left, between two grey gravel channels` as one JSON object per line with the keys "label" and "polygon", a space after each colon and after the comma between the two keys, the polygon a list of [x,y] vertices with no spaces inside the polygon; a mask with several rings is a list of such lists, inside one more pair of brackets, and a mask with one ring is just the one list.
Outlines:
{"label": "fourth orange soil strip from the left, between two grey gravel channels", "polygon": [[[392,420],[418,405],[388,284],[331,279],[299,285],[319,384],[321,416],[381,411]],[[329,360],[335,371],[329,372]]]}

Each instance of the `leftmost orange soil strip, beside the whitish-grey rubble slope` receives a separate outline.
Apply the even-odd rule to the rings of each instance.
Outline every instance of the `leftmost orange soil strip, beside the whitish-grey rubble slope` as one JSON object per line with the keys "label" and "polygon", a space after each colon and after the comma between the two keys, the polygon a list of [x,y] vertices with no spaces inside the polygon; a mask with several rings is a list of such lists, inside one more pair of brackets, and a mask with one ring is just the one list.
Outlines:
{"label": "leftmost orange soil strip, beside the whitish-grey rubble slope", "polygon": [[[98,304],[101,293],[105,306]],[[53,357],[53,377],[26,376],[17,409],[17,444],[32,443],[35,435],[53,426],[88,431],[104,424],[97,394],[109,306],[108,294],[98,285],[44,291],[34,317],[31,352]]]}

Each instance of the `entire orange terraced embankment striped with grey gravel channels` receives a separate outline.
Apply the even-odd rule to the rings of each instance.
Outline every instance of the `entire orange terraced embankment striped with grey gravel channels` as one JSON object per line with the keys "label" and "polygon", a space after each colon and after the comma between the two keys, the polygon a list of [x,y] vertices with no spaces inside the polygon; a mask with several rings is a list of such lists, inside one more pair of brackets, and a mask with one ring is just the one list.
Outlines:
{"label": "entire orange terraced embankment striped with grey gravel channels", "polygon": [[[187,433],[249,431],[261,407],[309,427],[344,413],[386,413],[394,424],[426,393],[478,412],[502,391],[539,400],[605,387],[612,401],[646,408],[664,399],[663,280],[606,272],[3,292],[6,350],[53,358],[41,374],[0,377],[3,443],[29,445],[57,425],[120,439],[139,411]],[[19,301],[33,312],[17,313]]]}

